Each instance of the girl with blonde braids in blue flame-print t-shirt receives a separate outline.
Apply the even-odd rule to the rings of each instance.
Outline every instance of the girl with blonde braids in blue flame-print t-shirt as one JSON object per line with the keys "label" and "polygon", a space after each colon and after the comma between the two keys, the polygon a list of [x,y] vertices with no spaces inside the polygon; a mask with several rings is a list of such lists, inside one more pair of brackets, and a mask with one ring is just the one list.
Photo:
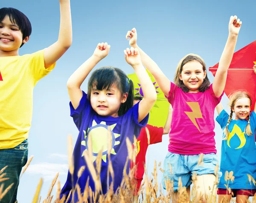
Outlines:
{"label": "girl with blonde braids in blue flame-print t-shirt", "polygon": [[[256,72],[256,66],[254,66]],[[223,198],[230,202],[231,197],[236,197],[237,203],[246,202],[249,196],[256,192],[256,186],[248,180],[247,174],[256,179],[256,105],[251,111],[251,97],[247,92],[236,91],[230,96],[230,114],[228,114],[221,103],[216,107],[218,112],[217,122],[224,130],[221,145],[222,176],[218,185],[218,202]],[[235,114],[235,119],[233,119]],[[252,155],[254,154],[254,155]],[[235,179],[229,182],[228,191],[225,172],[233,171]],[[233,194],[232,194],[233,193]]]}

